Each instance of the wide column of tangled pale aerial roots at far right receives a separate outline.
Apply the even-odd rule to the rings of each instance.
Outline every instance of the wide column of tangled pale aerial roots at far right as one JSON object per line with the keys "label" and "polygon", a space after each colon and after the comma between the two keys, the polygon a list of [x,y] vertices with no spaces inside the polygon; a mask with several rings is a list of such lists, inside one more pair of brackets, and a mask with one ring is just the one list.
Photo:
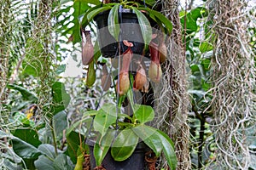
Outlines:
{"label": "wide column of tangled pale aerial roots at far right", "polygon": [[256,75],[255,54],[247,32],[247,2],[207,3],[216,38],[211,93],[215,125],[212,132],[218,147],[216,162],[209,169],[248,169],[254,163],[249,136],[255,135]]}

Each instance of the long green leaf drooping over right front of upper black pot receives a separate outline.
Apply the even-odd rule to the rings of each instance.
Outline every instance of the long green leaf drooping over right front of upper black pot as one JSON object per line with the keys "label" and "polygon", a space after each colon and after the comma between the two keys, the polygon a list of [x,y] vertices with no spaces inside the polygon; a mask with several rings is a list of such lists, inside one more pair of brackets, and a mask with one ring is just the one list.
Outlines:
{"label": "long green leaf drooping over right front of upper black pot", "polygon": [[144,43],[145,43],[145,48],[147,48],[149,42],[151,42],[151,39],[152,39],[152,28],[150,26],[150,23],[149,23],[147,17],[141,11],[139,11],[135,7],[131,7],[131,8],[137,14],[137,20],[141,27],[141,31],[142,31],[143,39],[144,39]]}

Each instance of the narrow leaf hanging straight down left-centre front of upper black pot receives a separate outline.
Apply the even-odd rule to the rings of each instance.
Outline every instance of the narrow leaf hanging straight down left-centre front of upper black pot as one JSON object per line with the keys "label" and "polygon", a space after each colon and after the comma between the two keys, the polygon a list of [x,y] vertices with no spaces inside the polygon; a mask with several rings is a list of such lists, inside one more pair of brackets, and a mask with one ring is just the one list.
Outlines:
{"label": "narrow leaf hanging straight down left-centre front of upper black pot", "polygon": [[114,5],[108,14],[108,31],[119,42],[119,4]]}

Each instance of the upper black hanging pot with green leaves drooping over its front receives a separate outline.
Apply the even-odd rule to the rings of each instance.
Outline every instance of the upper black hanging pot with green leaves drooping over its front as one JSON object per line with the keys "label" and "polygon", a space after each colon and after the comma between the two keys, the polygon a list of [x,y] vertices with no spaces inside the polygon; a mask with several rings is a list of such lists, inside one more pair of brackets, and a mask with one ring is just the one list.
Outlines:
{"label": "upper black hanging pot with green leaves drooping over its front", "polygon": [[[118,42],[108,31],[108,14],[109,11],[97,14],[94,20],[96,21],[97,40],[101,48],[103,57],[113,58],[117,53],[119,47]],[[133,13],[131,9],[119,9],[119,23],[120,24],[120,45],[121,54],[125,52],[127,47],[123,44],[122,40],[127,40],[133,43],[131,50],[133,54],[143,54],[144,42],[141,28],[138,24],[137,14]]]}

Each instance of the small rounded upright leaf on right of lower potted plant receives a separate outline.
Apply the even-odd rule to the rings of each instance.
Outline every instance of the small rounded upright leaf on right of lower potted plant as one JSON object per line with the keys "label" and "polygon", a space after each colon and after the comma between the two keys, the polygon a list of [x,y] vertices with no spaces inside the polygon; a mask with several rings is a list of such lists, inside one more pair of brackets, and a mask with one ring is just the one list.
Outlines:
{"label": "small rounded upright leaf on right of lower potted plant", "polygon": [[150,122],[154,119],[154,110],[148,105],[135,105],[134,115],[141,123]]}

